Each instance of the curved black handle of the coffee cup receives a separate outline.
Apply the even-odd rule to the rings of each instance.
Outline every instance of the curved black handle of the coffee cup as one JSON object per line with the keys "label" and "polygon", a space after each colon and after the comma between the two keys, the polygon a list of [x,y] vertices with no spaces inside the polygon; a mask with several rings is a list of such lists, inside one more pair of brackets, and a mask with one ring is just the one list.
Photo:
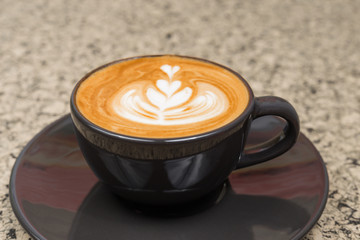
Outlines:
{"label": "curved black handle of the coffee cup", "polygon": [[236,168],[248,167],[273,159],[289,150],[296,143],[300,132],[299,117],[288,101],[275,96],[255,98],[253,119],[265,115],[279,116],[286,120],[285,137],[268,149],[250,154],[243,153]]}

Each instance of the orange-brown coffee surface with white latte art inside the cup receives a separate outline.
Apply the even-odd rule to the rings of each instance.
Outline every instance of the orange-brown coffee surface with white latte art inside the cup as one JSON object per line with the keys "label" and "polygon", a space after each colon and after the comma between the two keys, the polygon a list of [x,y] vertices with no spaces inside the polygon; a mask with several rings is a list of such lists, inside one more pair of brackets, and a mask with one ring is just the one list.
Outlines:
{"label": "orange-brown coffee surface with white latte art inside the cup", "polygon": [[233,72],[179,56],[108,65],[83,80],[75,97],[90,122],[141,138],[209,132],[236,119],[249,103],[247,87]]}

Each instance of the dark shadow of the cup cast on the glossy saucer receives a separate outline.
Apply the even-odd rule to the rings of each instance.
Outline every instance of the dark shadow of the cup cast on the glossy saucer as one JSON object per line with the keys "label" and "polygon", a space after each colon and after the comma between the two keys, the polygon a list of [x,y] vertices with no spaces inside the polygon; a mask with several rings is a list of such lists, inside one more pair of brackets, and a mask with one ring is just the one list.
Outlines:
{"label": "dark shadow of the cup cast on the glossy saucer", "polygon": [[290,239],[310,219],[295,202],[238,195],[224,186],[176,210],[125,202],[99,182],[81,204],[68,239],[263,239],[258,232]]}

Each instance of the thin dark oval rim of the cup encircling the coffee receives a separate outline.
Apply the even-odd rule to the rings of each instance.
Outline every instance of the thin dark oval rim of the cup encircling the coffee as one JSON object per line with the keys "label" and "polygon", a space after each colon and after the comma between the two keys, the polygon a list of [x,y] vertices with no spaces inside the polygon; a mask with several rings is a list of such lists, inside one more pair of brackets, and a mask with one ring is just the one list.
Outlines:
{"label": "thin dark oval rim of the cup encircling the coffee", "polygon": [[[248,94],[249,94],[249,101],[247,103],[247,106],[245,107],[244,111],[237,116],[233,121],[231,121],[230,123],[221,126],[219,128],[213,129],[211,131],[208,132],[203,132],[203,133],[199,133],[199,134],[195,134],[195,135],[190,135],[190,136],[183,136],[183,137],[176,137],[176,138],[145,138],[145,137],[136,137],[136,136],[129,136],[129,135],[124,135],[124,134],[120,134],[120,133],[116,133],[113,131],[110,131],[108,129],[102,128],[96,124],[94,124],[93,122],[91,122],[90,120],[88,120],[78,109],[78,107],[76,106],[76,93],[77,90],[79,89],[80,85],[82,82],[84,82],[89,76],[91,76],[92,74],[94,74],[95,72],[106,68],[110,65],[113,64],[117,64],[117,63],[121,63],[121,62],[125,62],[125,61],[129,61],[129,60],[133,60],[133,59],[139,59],[139,58],[152,58],[152,57],[162,57],[162,56],[174,56],[174,57],[180,57],[180,58],[188,58],[188,59],[193,59],[193,60],[197,60],[197,61],[202,61],[202,62],[206,62],[206,63],[210,63],[213,64],[215,66],[221,67],[229,72],[231,72],[232,74],[234,74],[240,81],[242,81],[242,83],[244,84],[244,86],[246,87]],[[158,143],[163,143],[163,144],[171,144],[171,143],[180,143],[180,142],[191,142],[191,141],[197,141],[197,140],[201,140],[201,139],[205,139],[214,135],[218,135],[224,132],[228,132],[231,129],[234,129],[236,127],[239,126],[239,124],[241,124],[243,121],[245,121],[247,119],[247,117],[251,114],[253,108],[254,108],[254,93],[250,87],[250,85],[248,84],[248,82],[237,72],[235,72],[234,70],[221,65],[219,63],[207,60],[207,59],[202,59],[202,58],[198,58],[198,57],[191,57],[191,56],[184,56],[184,55],[177,55],[177,54],[158,54],[158,55],[140,55],[140,56],[135,56],[135,57],[128,57],[128,58],[122,58],[122,59],[118,59],[109,63],[106,63],[104,65],[101,65],[100,67],[97,67],[95,69],[93,69],[92,71],[88,72],[87,74],[85,74],[85,76],[83,76],[75,85],[72,93],[71,93],[71,97],[70,97],[70,108],[71,108],[71,115],[75,115],[75,117],[82,122],[82,124],[84,124],[85,126],[87,126],[88,128],[92,129],[95,132],[98,132],[100,134],[104,134],[108,137],[111,138],[115,138],[117,140],[125,140],[128,142],[137,142],[137,143],[154,143],[154,144],[158,144]],[[72,116],[74,117],[74,116]]]}

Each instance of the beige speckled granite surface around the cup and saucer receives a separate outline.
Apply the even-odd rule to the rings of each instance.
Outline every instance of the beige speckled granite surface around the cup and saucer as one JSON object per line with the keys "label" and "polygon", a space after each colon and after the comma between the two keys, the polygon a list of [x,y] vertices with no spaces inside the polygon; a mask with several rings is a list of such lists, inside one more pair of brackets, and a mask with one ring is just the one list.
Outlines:
{"label": "beige speckled granite surface around the cup and saucer", "polygon": [[239,71],[297,109],[330,195],[304,239],[360,239],[360,1],[0,1],[0,239],[29,239],[8,195],[12,165],[69,112],[87,71],[176,53]]}

